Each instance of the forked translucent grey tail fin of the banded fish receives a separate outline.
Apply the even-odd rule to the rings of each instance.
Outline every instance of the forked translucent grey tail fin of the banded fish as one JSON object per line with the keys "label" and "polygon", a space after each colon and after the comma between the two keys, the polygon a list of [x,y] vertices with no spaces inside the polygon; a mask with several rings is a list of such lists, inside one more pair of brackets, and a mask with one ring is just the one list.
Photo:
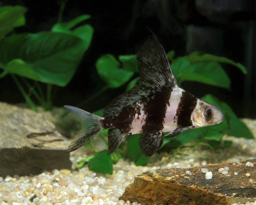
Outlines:
{"label": "forked translucent grey tail fin of the banded fish", "polygon": [[76,135],[75,140],[68,146],[68,152],[77,150],[99,132],[104,130],[100,122],[104,117],[100,117],[73,106],[65,105],[64,108],[74,115],[82,125],[82,129]]}

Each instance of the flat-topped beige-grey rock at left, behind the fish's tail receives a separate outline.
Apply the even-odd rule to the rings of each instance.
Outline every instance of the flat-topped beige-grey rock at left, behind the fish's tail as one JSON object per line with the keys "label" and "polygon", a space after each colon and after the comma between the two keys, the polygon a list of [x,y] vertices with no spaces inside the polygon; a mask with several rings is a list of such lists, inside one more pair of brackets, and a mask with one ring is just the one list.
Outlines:
{"label": "flat-topped beige-grey rock at left, behind the fish's tail", "polygon": [[0,102],[0,176],[71,169],[67,146],[43,114]]}

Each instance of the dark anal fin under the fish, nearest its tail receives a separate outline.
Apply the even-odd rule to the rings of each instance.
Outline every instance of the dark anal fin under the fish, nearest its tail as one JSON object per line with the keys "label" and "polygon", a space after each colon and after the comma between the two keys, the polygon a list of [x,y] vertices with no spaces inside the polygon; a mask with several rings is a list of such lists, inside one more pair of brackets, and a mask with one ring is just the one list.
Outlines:
{"label": "dark anal fin under the fish, nearest its tail", "polygon": [[116,151],[125,136],[126,134],[118,129],[110,128],[108,130],[108,155]]}

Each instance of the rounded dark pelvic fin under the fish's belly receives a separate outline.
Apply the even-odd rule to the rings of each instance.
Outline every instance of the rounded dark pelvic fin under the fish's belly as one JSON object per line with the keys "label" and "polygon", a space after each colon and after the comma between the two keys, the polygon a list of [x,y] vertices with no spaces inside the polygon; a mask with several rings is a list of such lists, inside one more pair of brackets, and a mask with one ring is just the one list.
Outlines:
{"label": "rounded dark pelvic fin under the fish's belly", "polygon": [[159,131],[150,131],[141,133],[139,138],[139,146],[142,154],[150,157],[156,153],[164,141],[164,133]]}

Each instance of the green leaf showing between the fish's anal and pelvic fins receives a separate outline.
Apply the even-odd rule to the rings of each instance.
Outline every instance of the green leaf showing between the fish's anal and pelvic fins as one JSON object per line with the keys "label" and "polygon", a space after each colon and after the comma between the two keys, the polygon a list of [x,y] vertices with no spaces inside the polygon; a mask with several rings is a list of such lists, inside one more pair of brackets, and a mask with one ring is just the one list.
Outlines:
{"label": "green leaf showing between the fish's anal and pelvic fins", "polygon": [[130,135],[128,137],[127,152],[136,166],[145,166],[148,163],[148,157],[145,157],[139,146],[140,134]]}

